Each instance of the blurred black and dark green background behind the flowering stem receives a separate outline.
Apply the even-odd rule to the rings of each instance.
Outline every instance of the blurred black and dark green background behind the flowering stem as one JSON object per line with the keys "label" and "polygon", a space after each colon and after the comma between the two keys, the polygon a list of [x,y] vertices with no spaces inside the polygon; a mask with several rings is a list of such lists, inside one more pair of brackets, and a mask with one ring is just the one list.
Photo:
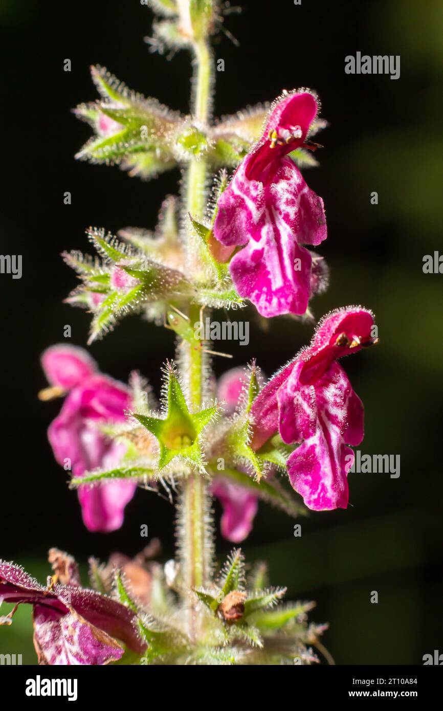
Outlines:
{"label": "blurred black and dark green background behind the flowering stem", "polygon": [[[421,664],[443,651],[442,601],[442,274],[423,274],[422,257],[442,249],[443,8],[434,0],[292,0],[242,2],[226,19],[240,41],[225,36],[215,58],[215,115],[272,100],[283,88],[319,92],[330,127],[319,141],[320,169],[306,179],[323,198],[329,239],[321,253],[331,267],[329,291],[314,300],[321,316],[336,306],[375,311],[380,346],[349,359],[346,370],[365,404],[368,454],[400,454],[399,479],[351,474],[351,506],[311,513],[294,538],[294,522],[260,505],[244,549],[250,562],[269,560],[274,584],[292,599],[316,599],[315,621],[329,621],[326,646],[337,663]],[[90,135],[70,109],[96,97],[88,73],[100,63],[129,87],[174,109],[188,107],[189,57],[151,55],[151,12],[139,1],[83,4],[1,0],[2,254],[23,255],[23,277],[0,277],[3,358],[0,555],[44,580],[46,550],[56,545],[80,562],[113,550],[135,554],[140,525],[173,555],[173,509],[138,491],[117,533],[88,533],[75,493],[55,464],[46,428],[60,401],[41,403],[44,348],[84,346],[89,317],[62,303],[75,276],[63,249],[84,249],[84,230],[127,225],[153,228],[178,172],[143,183],[117,168],[78,163]],[[346,75],[344,58],[401,55],[399,80]],[[70,58],[72,71],[63,71]],[[70,191],[72,205],[63,204]],[[370,193],[378,191],[378,205]],[[250,346],[235,363],[257,356],[270,375],[311,338],[311,326],[274,319],[263,332],[252,309]],[[246,318],[246,316],[244,316]],[[131,316],[90,351],[103,372],[126,380],[138,368],[158,392],[161,364],[171,357],[169,331]],[[228,367],[218,359],[218,374]],[[219,510],[217,508],[217,523]],[[218,552],[228,552],[218,541]],[[378,604],[370,593],[378,591]],[[2,609],[3,611],[3,609]],[[22,606],[0,631],[0,651],[34,663],[31,610]]]}

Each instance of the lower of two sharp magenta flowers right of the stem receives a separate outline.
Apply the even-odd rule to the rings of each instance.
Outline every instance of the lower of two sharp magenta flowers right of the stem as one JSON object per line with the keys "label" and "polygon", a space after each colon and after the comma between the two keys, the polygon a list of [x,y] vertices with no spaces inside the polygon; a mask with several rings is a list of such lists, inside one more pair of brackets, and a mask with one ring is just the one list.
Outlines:
{"label": "lower of two sharp magenta flowers right of the stem", "polygon": [[254,449],[277,429],[287,444],[292,487],[313,510],[346,508],[347,474],[353,451],[363,439],[363,405],[337,358],[356,353],[378,339],[373,314],[348,306],[326,316],[309,348],[279,371],[252,405]]}

